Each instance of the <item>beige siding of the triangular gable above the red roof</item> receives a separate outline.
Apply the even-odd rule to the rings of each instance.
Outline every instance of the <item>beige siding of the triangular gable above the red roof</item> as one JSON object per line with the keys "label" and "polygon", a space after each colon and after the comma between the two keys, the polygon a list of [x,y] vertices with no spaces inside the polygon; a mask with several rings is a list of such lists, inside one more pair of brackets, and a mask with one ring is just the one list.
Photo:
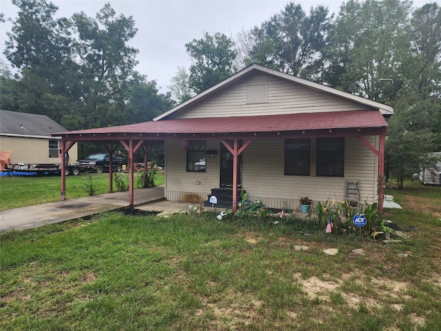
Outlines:
{"label": "beige siding of the triangular gable above the red roof", "polygon": [[[247,88],[253,84],[267,84],[267,102],[247,104]],[[224,90],[220,90],[194,106],[178,112],[173,117],[189,119],[367,109],[369,109],[368,106],[360,103],[334,97],[331,94],[316,92],[296,83],[259,73],[232,83]]]}

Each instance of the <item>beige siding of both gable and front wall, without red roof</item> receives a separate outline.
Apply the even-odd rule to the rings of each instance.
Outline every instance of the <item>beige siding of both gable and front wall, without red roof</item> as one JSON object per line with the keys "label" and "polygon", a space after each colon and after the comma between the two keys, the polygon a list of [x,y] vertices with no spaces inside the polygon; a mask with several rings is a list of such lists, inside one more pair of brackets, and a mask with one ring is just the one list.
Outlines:
{"label": "beige siding of both gable and front wall, without red roof", "polygon": [[[261,69],[261,68],[260,68]],[[265,121],[268,115],[353,112],[372,110],[391,113],[389,106],[378,103],[360,103],[361,98],[349,96],[295,77],[256,70],[238,79],[227,88],[214,90],[201,100],[190,100],[170,110],[163,119],[203,119],[223,117],[253,117]],[[299,84],[300,81],[302,84]],[[251,94],[251,95],[250,95]],[[265,94],[265,95],[262,95]],[[342,97],[343,95],[343,97]],[[373,107],[375,105],[375,107]],[[222,121],[219,121],[222,126]],[[385,123],[384,123],[385,125]],[[312,124],[311,127],[314,127]],[[274,130],[279,130],[274,128]],[[333,137],[329,134],[329,137]],[[282,208],[287,203],[298,208],[300,197],[310,197],[316,203],[326,199],[346,197],[346,181],[358,181],[360,204],[378,201],[378,157],[356,137],[345,137],[344,172],[340,177],[317,176],[314,149],[311,150],[309,176],[285,174],[285,139],[254,139],[241,154],[239,182],[249,199],[261,199],[269,208]],[[378,135],[365,139],[377,150]],[[316,139],[311,138],[311,145]],[[166,141],[165,197],[178,201],[204,201],[219,183],[221,157],[206,159],[205,172],[188,172],[185,168],[187,153],[181,141]],[[219,140],[207,140],[207,150],[220,150]],[[219,153],[218,153],[219,155]]]}

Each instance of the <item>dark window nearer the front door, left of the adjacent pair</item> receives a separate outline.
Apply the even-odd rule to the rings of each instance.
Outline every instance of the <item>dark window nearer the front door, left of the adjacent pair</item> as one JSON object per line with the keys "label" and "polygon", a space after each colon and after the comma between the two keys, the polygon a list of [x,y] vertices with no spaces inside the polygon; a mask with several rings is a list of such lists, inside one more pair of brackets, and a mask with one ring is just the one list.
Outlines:
{"label": "dark window nearer the front door, left of the adjacent pair", "polygon": [[309,176],[311,139],[285,139],[285,174]]}

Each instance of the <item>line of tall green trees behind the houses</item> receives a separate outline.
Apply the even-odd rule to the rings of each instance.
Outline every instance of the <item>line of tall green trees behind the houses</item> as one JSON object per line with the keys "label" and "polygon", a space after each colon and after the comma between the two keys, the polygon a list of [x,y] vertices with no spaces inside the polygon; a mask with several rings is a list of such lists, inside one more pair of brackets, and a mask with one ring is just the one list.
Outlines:
{"label": "line of tall green trees behind the houses", "polygon": [[106,4],[55,19],[57,7],[12,0],[19,7],[1,70],[1,109],[47,114],[69,130],[148,121],[251,63],[392,106],[387,169],[402,179],[433,163],[441,150],[441,9],[410,0],[349,0],[337,14],[287,3],[235,37],[203,34],[185,44],[192,60],[178,67],[170,92],[134,70],[132,17]]}

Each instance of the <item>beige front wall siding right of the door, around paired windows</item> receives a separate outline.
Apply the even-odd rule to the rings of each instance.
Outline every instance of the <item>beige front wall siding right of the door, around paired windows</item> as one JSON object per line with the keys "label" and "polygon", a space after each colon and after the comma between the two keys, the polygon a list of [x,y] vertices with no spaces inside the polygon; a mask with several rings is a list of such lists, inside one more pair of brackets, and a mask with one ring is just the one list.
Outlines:
{"label": "beige front wall siding right of the door, around paired windows", "polygon": [[[367,140],[375,144],[375,138]],[[345,177],[285,176],[284,148],[283,139],[255,140],[243,152],[243,187],[250,200],[262,199],[269,208],[282,208],[286,202],[294,209],[305,196],[314,203],[340,201],[347,179],[359,181],[361,201],[376,200],[376,157],[356,138],[345,139]]]}

